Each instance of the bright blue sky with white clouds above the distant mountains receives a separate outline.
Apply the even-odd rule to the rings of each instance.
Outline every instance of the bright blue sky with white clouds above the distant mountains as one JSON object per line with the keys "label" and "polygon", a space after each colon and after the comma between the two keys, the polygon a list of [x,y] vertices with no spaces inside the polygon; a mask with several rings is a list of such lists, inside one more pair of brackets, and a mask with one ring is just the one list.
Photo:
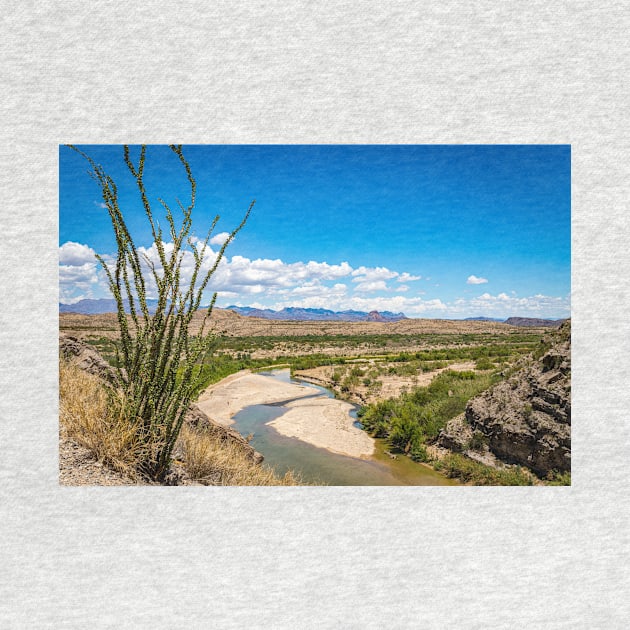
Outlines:
{"label": "bright blue sky with white clouds above the distant mountains", "polygon": [[[114,178],[136,244],[154,257],[122,147],[81,148]],[[184,155],[195,234],[221,217],[215,252],[256,199],[213,279],[219,306],[570,314],[568,145],[191,145]],[[158,197],[187,201],[167,146],[148,147],[145,173],[158,215]],[[60,301],[109,297],[94,259],[116,249],[100,189],[65,146],[59,177]]]}

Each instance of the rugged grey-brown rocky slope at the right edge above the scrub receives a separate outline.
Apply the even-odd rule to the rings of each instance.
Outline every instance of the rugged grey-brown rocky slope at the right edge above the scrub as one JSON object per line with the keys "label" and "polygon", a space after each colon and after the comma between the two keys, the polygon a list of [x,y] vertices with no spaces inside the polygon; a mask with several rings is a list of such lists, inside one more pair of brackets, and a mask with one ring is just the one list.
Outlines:
{"label": "rugged grey-brown rocky slope at the right edge above the scrub", "polygon": [[509,378],[471,399],[438,444],[472,459],[520,464],[543,477],[570,472],[570,321]]}

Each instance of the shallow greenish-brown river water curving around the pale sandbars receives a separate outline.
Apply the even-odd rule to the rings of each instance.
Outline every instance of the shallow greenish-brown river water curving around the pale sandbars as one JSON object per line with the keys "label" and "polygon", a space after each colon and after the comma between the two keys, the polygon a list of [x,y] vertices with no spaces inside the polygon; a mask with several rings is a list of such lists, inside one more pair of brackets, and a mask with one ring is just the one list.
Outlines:
{"label": "shallow greenish-brown river water curving around the pale sandbars", "polygon": [[[314,396],[334,397],[324,387],[291,379],[288,369],[259,374],[284,382],[308,385],[313,388]],[[287,402],[251,405],[232,418],[234,428],[242,435],[253,434],[251,445],[264,455],[265,463],[280,475],[293,470],[308,483],[332,486],[456,485],[455,481],[407,457],[390,459],[383,452],[387,448],[383,440],[377,440],[376,452],[371,459],[356,459],[285,437],[267,423],[288,411],[283,406]],[[356,418],[356,409],[351,415]]]}

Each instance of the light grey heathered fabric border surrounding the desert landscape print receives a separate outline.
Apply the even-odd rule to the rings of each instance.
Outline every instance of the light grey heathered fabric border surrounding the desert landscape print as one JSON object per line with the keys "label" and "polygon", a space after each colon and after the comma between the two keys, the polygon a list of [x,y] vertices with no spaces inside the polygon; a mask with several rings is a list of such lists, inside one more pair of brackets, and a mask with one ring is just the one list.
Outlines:
{"label": "light grey heathered fabric border surrounding the desert landscape print", "polygon": [[[629,16],[3,3],[0,627],[627,627]],[[70,141],[572,144],[573,486],[60,488]]]}

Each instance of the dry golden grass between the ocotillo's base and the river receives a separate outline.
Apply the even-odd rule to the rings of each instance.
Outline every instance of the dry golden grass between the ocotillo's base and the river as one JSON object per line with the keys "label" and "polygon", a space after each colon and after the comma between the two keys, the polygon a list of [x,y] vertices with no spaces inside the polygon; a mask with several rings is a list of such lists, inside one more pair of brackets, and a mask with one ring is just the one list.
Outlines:
{"label": "dry golden grass between the ocotillo's base and the river", "polygon": [[179,434],[186,472],[195,481],[215,486],[296,486],[288,472],[277,477],[268,466],[252,462],[236,443],[222,442],[212,433],[184,426]]}

